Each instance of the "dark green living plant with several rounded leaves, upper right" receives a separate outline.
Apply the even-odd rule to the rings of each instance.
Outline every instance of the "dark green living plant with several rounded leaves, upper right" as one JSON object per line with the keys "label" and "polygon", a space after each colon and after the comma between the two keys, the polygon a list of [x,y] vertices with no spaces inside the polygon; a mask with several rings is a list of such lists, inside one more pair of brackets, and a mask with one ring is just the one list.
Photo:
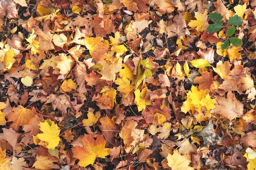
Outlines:
{"label": "dark green living plant with several rounded leaves, upper right", "polygon": [[229,44],[232,44],[233,46],[240,46],[243,44],[242,39],[239,39],[238,37],[232,37],[236,31],[235,26],[241,26],[243,24],[243,21],[241,21],[241,17],[238,15],[234,15],[229,18],[227,21],[227,24],[224,24],[222,21],[222,15],[220,13],[210,13],[209,20],[214,22],[214,24],[209,24],[206,31],[209,33],[215,33],[220,30],[226,30],[227,39],[223,41],[223,44],[221,45],[221,49],[225,50],[228,48]]}

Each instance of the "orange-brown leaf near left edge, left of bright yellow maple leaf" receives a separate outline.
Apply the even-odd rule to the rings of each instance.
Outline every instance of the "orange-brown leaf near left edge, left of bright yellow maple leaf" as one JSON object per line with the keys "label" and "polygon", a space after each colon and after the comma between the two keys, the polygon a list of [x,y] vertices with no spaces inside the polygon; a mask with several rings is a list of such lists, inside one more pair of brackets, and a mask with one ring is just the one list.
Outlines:
{"label": "orange-brown leaf near left edge, left of bright yellow maple leaf", "polygon": [[18,131],[20,126],[29,124],[31,118],[33,118],[35,115],[36,110],[34,108],[26,109],[21,105],[18,105],[18,107],[13,107],[11,113],[8,114],[8,121],[12,122],[10,127]]}

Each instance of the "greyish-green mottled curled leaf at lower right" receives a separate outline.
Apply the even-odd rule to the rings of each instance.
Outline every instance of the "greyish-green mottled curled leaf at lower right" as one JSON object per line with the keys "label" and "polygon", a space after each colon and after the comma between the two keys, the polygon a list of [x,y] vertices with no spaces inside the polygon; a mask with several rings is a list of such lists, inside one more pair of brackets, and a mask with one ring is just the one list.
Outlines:
{"label": "greyish-green mottled curled leaf at lower right", "polygon": [[213,123],[209,120],[207,126],[204,126],[202,131],[195,133],[195,137],[201,137],[206,146],[211,143],[212,145],[223,142],[223,139],[216,133],[213,132]]}

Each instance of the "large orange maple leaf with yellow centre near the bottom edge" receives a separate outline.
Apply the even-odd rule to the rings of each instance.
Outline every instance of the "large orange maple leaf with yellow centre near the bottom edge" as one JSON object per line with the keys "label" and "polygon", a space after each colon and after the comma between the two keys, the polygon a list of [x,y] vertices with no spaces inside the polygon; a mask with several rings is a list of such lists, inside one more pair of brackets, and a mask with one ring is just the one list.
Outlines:
{"label": "large orange maple leaf with yellow centre near the bottom edge", "polygon": [[82,139],[83,147],[75,146],[72,149],[73,157],[79,159],[78,166],[86,167],[93,165],[97,157],[106,158],[111,148],[105,148],[106,140],[99,135],[96,140],[92,135],[86,135]]}

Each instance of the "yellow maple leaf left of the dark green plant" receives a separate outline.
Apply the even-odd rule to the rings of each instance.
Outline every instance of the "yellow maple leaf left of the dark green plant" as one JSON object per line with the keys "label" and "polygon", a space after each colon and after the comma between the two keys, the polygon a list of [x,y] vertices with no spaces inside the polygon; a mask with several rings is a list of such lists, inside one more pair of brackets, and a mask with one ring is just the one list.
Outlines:
{"label": "yellow maple leaf left of the dark green plant", "polygon": [[207,13],[207,11],[204,11],[204,13],[195,12],[195,18],[197,20],[191,20],[188,25],[191,28],[195,28],[196,31],[199,32],[206,30],[206,28],[209,26],[207,22]]}

